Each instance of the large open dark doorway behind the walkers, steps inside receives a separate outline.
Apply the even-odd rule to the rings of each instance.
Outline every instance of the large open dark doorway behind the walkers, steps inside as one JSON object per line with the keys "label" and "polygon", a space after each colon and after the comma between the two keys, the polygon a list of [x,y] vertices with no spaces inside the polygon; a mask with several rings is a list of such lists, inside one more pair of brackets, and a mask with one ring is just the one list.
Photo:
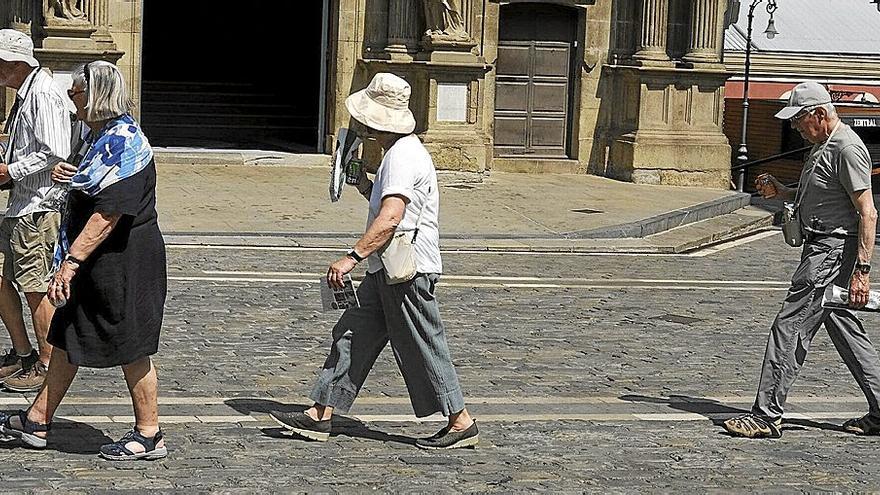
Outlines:
{"label": "large open dark doorway behind the walkers, steps inside", "polygon": [[321,1],[149,1],[143,18],[154,145],[316,150]]}

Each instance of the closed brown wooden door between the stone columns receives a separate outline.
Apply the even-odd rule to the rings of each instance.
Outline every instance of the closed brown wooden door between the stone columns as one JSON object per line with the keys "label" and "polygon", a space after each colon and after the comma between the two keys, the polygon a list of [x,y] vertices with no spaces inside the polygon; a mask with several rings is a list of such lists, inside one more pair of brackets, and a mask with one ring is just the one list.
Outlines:
{"label": "closed brown wooden door between the stone columns", "polygon": [[568,156],[577,22],[576,10],[555,5],[501,8],[496,156]]}

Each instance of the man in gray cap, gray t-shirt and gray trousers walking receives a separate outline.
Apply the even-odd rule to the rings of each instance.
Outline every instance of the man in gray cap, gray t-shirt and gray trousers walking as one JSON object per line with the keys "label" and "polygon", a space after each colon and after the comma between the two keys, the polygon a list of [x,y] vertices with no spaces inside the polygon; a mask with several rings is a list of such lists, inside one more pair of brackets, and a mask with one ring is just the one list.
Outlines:
{"label": "man in gray cap, gray t-shirt and gray trousers walking", "polygon": [[868,302],[871,255],[877,211],[871,195],[871,159],[865,144],[837,116],[831,96],[820,84],[805,82],[776,114],[789,120],[813,143],[798,188],[788,188],[764,174],[757,178],[765,198],[799,205],[804,232],[801,263],[791,279],[782,309],[770,328],[758,394],[749,414],[729,419],[734,436],[779,438],[788,391],[807,356],[810,343],[825,325],[834,347],[868,400],[868,414],[844,423],[846,431],[880,434],[880,359],[862,322],[849,309],[822,307],[830,284],[849,289],[852,308]]}

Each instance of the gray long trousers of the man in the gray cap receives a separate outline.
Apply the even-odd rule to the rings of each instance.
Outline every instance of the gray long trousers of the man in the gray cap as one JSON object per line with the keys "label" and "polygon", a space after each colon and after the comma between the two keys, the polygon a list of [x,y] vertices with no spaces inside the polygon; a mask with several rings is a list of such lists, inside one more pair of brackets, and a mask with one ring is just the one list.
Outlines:
{"label": "gray long trousers of the man in the gray cap", "polygon": [[817,236],[803,247],[801,263],[791,279],[782,309],[770,328],[758,394],[752,413],[770,420],[782,417],[788,392],[821,325],[868,400],[872,416],[880,417],[880,358],[856,313],[825,309],[822,295],[831,283],[849,288],[858,254],[858,240]]}

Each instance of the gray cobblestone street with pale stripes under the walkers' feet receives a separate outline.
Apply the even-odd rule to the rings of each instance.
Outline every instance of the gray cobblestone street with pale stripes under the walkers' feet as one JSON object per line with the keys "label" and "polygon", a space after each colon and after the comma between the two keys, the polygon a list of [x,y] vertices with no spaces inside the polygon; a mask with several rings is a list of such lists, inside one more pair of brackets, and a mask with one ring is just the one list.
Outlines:
{"label": "gray cobblestone street with pale stripes under the walkers' feet", "polygon": [[388,350],[330,442],[281,436],[268,419],[307,404],[338,316],[320,311],[316,279],[336,254],[169,246],[156,357],[169,457],[95,456],[131,411],[119,370],[84,369],[47,451],[0,446],[0,491],[880,490],[880,440],[836,426],[866,405],[824,335],[781,439],[716,425],[753,398],[797,258],[778,235],[702,257],[445,254],[441,311],[482,436],[449,453],[413,447],[442,423],[410,417]]}

